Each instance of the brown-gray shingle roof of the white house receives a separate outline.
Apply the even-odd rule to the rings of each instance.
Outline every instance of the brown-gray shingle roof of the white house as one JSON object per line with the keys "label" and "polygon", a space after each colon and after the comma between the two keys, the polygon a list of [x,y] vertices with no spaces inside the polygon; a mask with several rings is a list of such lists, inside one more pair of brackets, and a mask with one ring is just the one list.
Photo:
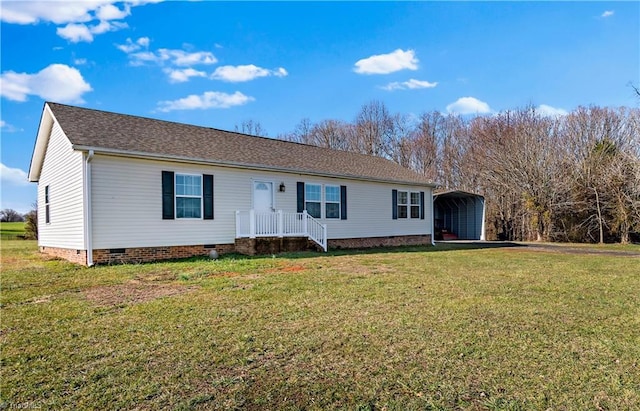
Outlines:
{"label": "brown-gray shingle roof of the white house", "polygon": [[392,161],[347,151],[57,103],[47,103],[76,149],[189,159],[304,174],[431,185]]}

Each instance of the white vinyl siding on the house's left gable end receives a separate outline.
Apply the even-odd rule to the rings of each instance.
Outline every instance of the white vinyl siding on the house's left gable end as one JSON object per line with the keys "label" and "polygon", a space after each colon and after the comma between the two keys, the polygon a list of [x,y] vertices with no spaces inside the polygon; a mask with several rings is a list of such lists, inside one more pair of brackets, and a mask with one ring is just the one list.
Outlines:
{"label": "white vinyl siding on the house's left gable end", "polygon": [[82,163],[82,153],[71,148],[71,142],[54,122],[38,181],[40,246],[84,249]]}

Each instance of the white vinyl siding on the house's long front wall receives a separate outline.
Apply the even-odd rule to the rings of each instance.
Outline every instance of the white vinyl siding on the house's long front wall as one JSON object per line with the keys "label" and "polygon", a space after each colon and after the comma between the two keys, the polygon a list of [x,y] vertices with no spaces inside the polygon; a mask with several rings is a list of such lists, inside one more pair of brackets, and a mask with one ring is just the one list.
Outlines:
{"label": "white vinyl siding on the house's long front wall", "polygon": [[[385,237],[431,234],[425,218],[391,219],[391,191],[424,191],[427,186],[373,183],[269,171],[212,167],[96,154],[92,160],[93,247],[154,247],[168,245],[231,244],[235,241],[235,211],[252,207],[253,181],[285,184],[274,193],[273,207],[296,212],[296,182],[347,186],[347,220],[322,218],[328,238]],[[213,174],[214,220],[162,220],[163,170],[177,174]],[[135,178],[132,178],[135,176]],[[428,211],[431,204],[426,201]],[[429,213],[425,213],[428,216]]]}

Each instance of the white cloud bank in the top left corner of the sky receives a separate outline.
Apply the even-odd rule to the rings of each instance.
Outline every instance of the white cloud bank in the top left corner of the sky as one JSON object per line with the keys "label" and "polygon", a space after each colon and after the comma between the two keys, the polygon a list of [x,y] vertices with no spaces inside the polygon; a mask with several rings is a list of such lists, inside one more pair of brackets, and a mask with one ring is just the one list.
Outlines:
{"label": "white cloud bank in the top left corner of the sky", "polygon": [[[84,0],[67,1],[3,1],[0,19],[6,23],[36,24],[54,23],[56,33],[71,42],[91,42],[96,34],[118,30],[127,25],[122,20],[131,14],[131,7],[156,0]],[[123,4],[118,8],[115,4]],[[94,22],[95,24],[89,24]]]}

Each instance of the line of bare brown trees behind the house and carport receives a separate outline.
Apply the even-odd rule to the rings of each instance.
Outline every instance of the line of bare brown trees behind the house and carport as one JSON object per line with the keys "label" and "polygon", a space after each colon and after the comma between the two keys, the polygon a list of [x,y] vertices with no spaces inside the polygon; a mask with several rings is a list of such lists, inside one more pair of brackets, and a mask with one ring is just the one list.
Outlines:
{"label": "line of bare brown trees behind the house and carport", "polygon": [[371,101],[351,122],[303,119],[278,138],[388,158],[442,190],[482,194],[488,239],[638,240],[637,108],[578,107],[548,116],[523,107],[471,118],[438,111],[416,117]]}

